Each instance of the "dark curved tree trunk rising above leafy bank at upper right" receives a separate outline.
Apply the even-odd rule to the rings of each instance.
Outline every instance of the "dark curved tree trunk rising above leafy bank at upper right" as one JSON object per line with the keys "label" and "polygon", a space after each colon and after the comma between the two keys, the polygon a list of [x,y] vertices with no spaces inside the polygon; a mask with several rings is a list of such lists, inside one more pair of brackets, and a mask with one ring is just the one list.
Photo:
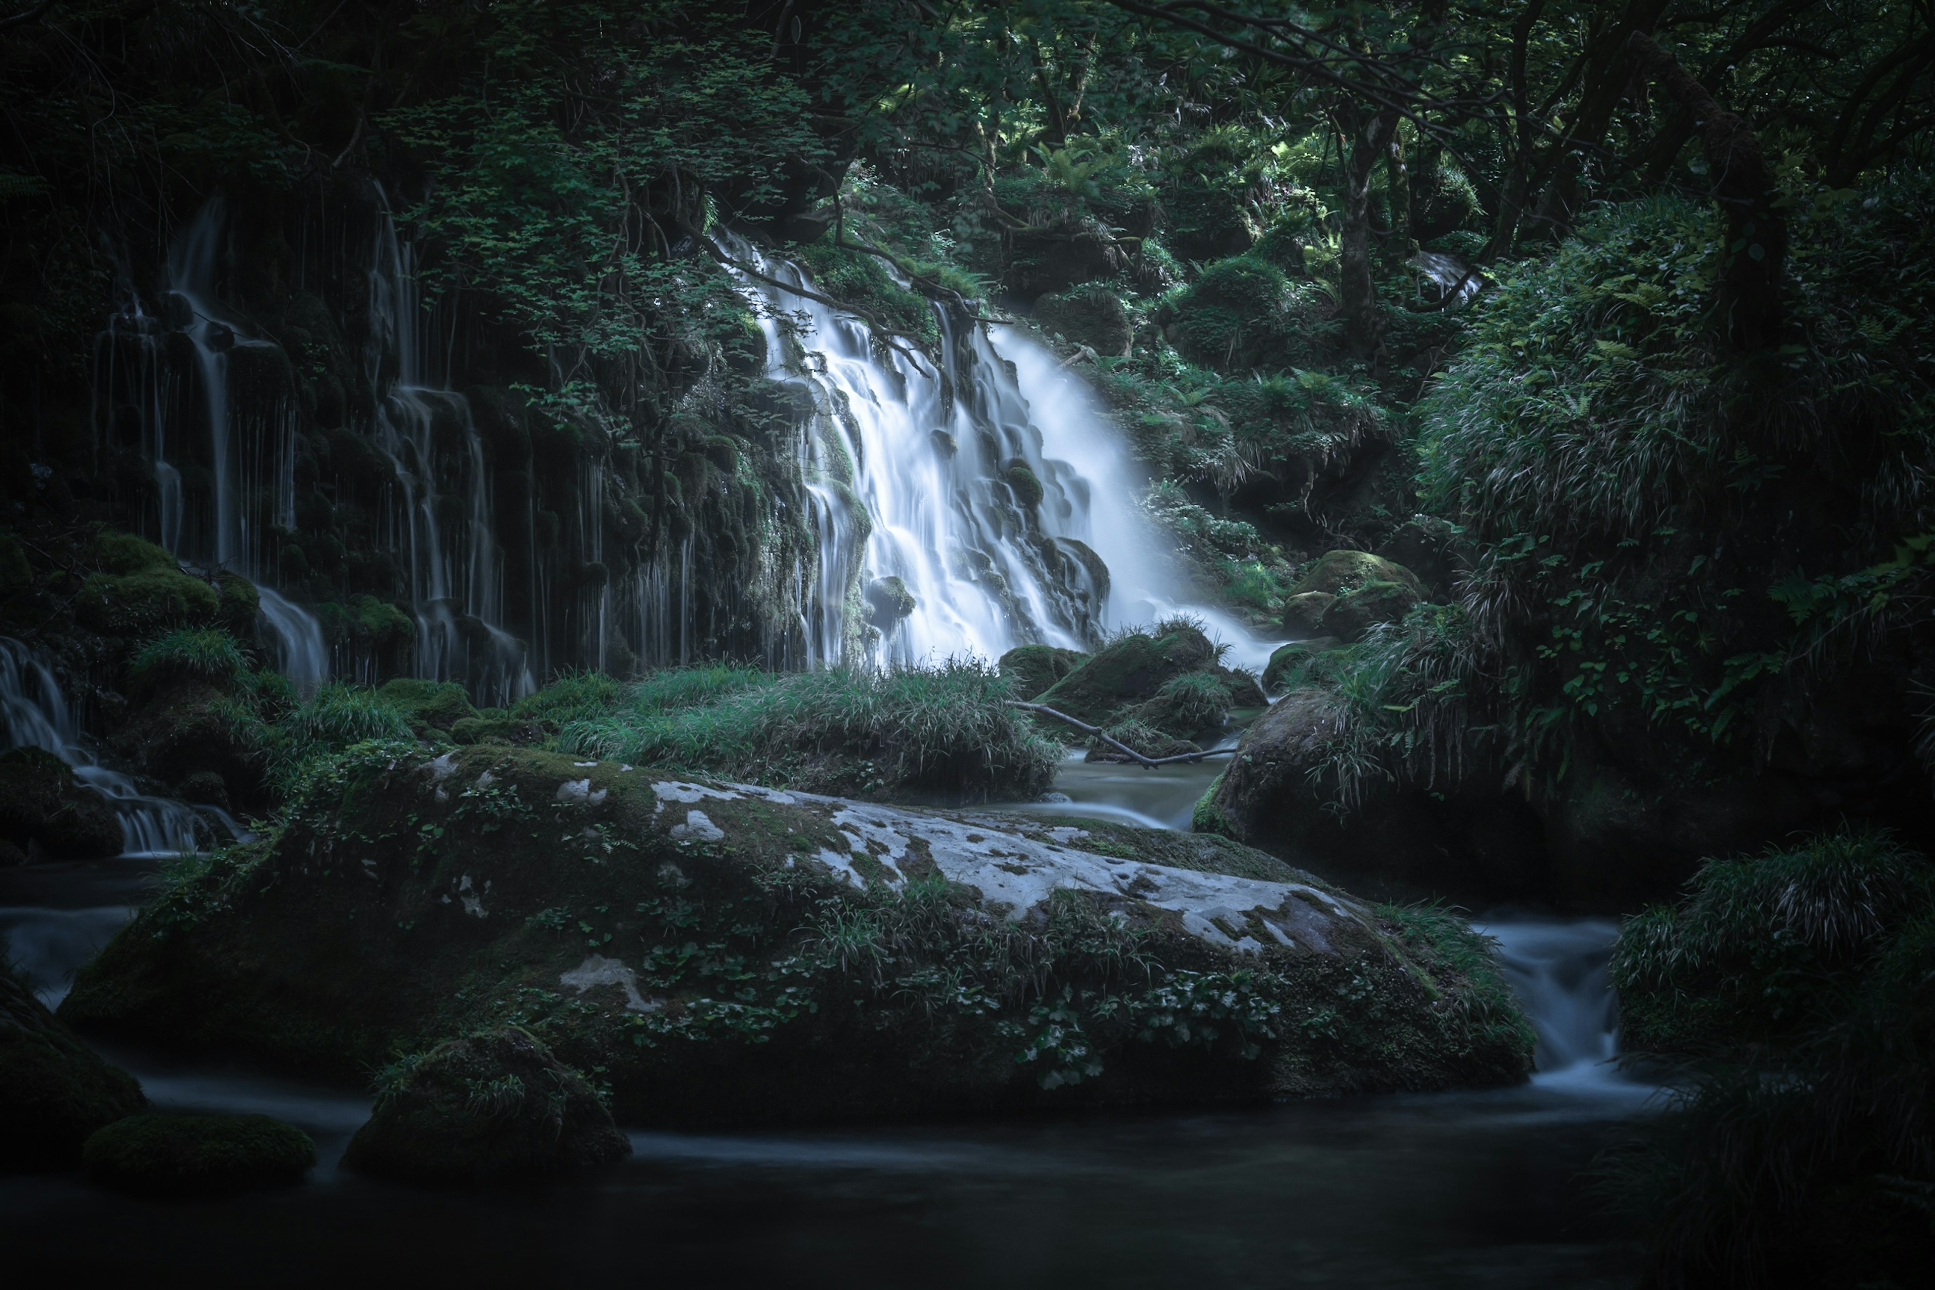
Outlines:
{"label": "dark curved tree trunk rising above leafy bank at upper right", "polygon": [[1778,344],[1784,321],[1780,269],[1788,255],[1788,226],[1774,209],[1780,190],[1761,153],[1759,137],[1747,122],[1722,110],[1707,87],[1687,75],[1652,37],[1635,31],[1625,48],[1693,118],[1707,153],[1712,195],[1726,217],[1726,246],[1720,249],[1720,282],[1714,292],[1714,323],[1720,337],[1736,350],[1765,350]]}

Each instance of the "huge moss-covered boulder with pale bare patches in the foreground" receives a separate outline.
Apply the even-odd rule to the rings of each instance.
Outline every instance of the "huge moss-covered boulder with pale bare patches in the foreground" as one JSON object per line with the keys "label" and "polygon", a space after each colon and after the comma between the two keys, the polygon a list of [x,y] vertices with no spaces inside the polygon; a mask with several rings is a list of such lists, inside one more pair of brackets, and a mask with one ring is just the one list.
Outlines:
{"label": "huge moss-covered boulder with pale bare patches in the foreground", "polygon": [[1531,1054],[1469,928],[1221,837],[501,745],[317,768],[62,1015],[344,1077],[517,1023],[627,1124],[1488,1085]]}

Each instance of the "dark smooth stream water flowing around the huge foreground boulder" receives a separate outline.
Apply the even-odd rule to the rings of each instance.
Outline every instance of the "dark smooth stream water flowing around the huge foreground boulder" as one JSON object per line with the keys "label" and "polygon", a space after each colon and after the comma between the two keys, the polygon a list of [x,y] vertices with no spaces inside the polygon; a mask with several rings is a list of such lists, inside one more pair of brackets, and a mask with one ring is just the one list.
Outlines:
{"label": "dark smooth stream water flowing around the huge foreground boulder", "polygon": [[[1070,760],[1020,806],[1186,828],[1217,762]],[[1014,808],[1014,806],[1010,806]],[[161,861],[0,870],[0,930],[58,1002]],[[194,1271],[306,1284],[381,1269],[478,1284],[569,1276],[784,1286],[1623,1286],[1637,1251],[1587,1170],[1651,1089],[1612,1056],[1608,921],[1498,915],[1540,1073],[1517,1089],[749,1133],[633,1133],[596,1180],[424,1191],[339,1168],[358,1091],[104,1046],[163,1110],[308,1129],[304,1186],[137,1201],[77,1174],[0,1176],[12,1269]]]}

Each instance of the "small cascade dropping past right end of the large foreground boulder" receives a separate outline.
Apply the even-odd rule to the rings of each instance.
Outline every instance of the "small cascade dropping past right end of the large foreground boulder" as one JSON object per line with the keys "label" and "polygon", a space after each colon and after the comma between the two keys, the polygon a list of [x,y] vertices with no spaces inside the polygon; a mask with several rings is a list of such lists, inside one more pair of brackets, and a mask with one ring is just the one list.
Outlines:
{"label": "small cascade dropping past right end of the large foreground boulder", "polygon": [[1612,994],[1612,919],[1525,921],[1478,926],[1498,940],[1505,979],[1538,1033],[1542,1079],[1612,1079],[1618,1006]]}

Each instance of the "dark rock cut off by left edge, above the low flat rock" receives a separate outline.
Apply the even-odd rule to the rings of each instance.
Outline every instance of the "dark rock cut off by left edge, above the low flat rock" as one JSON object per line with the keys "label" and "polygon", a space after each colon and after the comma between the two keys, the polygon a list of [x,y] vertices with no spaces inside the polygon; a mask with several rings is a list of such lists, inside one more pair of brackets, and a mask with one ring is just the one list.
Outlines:
{"label": "dark rock cut off by left edge, above the low flat rock", "polygon": [[74,1164],[89,1133],[145,1106],[128,1071],[103,1062],[0,965],[0,1170]]}

